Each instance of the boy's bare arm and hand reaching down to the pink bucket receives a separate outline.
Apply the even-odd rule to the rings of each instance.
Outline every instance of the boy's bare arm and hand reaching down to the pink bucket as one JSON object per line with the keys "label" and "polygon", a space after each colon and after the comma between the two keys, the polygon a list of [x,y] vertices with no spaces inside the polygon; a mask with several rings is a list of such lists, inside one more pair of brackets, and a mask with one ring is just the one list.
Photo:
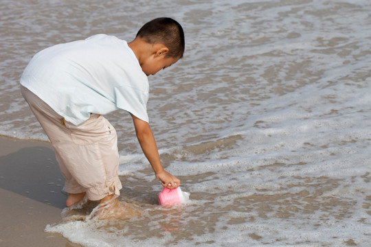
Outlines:
{"label": "boy's bare arm and hand reaching down to the pink bucket", "polygon": [[[156,178],[161,180],[162,186],[167,187],[168,189],[179,187],[180,180],[177,177],[172,176],[172,174],[166,172],[161,165],[155,137],[153,137],[149,124],[146,121],[135,117],[134,115],[131,115],[131,117],[133,117],[133,124],[139,144],[144,155],[152,166]],[[170,186],[168,186],[169,184]]]}

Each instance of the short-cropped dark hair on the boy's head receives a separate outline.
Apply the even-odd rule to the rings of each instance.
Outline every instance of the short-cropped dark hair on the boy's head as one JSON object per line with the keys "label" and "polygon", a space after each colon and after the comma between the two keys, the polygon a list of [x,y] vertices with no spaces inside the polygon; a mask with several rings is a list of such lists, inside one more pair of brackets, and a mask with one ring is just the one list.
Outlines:
{"label": "short-cropped dark hair on the boy's head", "polygon": [[161,43],[168,47],[166,54],[171,58],[182,58],[185,42],[181,25],[168,17],[161,17],[144,24],[137,37],[144,38],[150,44]]}

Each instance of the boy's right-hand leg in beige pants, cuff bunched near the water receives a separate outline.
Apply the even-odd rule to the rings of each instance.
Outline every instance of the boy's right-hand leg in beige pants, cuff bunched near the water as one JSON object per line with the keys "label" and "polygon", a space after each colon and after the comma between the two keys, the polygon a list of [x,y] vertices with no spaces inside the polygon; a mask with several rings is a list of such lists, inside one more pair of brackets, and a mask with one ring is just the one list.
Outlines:
{"label": "boy's right-hand leg in beige pants, cuff bunched near the water", "polygon": [[96,114],[78,126],[68,121],[65,126],[71,133],[71,141],[67,147],[65,143],[57,143],[56,148],[71,175],[86,188],[89,200],[120,195],[122,185],[117,175],[119,155],[115,128]]}

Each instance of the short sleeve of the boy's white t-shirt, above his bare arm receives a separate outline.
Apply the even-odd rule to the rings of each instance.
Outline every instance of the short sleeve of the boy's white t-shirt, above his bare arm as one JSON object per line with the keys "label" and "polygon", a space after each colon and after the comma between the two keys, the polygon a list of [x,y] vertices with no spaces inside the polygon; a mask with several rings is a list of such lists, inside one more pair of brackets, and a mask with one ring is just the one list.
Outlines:
{"label": "short sleeve of the boy's white t-shirt, above his bare arm", "polygon": [[131,86],[116,86],[115,97],[117,108],[126,110],[148,123],[148,92],[135,89]]}

